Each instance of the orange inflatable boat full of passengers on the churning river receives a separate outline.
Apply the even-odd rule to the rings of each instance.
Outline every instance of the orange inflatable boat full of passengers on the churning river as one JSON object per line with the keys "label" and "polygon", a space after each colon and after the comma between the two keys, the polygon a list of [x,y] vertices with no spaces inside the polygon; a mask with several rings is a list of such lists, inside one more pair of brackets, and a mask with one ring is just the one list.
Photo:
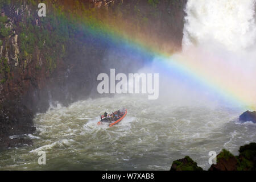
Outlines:
{"label": "orange inflatable boat full of passengers on the churning river", "polygon": [[[111,117],[110,115],[114,114],[115,117]],[[127,114],[127,109],[122,109],[115,111],[114,113],[109,114],[107,117],[104,117],[104,115],[101,115],[101,121],[97,123],[97,125],[101,125],[102,122],[109,122],[109,126],[114,126],[120,121],[122,121],[123,118],[125,118]]]}

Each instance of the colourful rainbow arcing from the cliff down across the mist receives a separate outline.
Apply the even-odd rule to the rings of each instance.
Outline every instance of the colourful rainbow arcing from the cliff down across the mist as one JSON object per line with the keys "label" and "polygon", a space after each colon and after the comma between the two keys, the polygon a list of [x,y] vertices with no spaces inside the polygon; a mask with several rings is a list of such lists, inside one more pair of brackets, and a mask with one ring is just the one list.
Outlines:
{"label": "colourful rainbow arcing from the cliff down across the mist", "polygon": [[84,30],[98,40],[129,47],[143,55],[153,55],[162,67],[185,77],[188,82],[195,82],[194,86],[208,88],[233,106],[255,110],[256,88],[247,84],[239,75],[235,76],[236,72],[230,71],[225,61],[218,60],[219,57],[205,60],[196,51],[193,56],[183,53],[173,55],[172,52],[161,50],[154,38],[148,38],[142,32],[126,30],[122,20],[114,22],[111,18],[98,18],[98,15],[94,14],[93,9],[88,10],[76,16],[74,20],[80,22]]}

